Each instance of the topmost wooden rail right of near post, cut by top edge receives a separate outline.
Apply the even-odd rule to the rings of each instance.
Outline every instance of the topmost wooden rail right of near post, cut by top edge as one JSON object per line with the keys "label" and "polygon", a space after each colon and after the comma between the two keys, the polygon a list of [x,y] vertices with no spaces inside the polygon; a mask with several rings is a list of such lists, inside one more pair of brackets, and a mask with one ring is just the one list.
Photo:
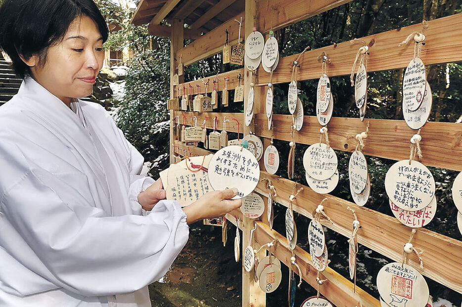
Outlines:
{"label": "topmost wooden rail right of near post, cut by top edge", "polygon": [[[266,34],[319,15],[351,0],[267,0],[257,2],[257,29]],[[271,10],[275,7],[275,10]]]}

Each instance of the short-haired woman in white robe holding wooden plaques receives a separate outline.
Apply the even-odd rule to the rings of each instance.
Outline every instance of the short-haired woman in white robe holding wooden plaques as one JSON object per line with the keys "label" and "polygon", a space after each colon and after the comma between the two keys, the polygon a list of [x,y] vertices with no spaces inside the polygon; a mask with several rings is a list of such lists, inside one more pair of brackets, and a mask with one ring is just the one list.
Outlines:
{"label": "short-haired woman in white robe holding wooden plaques", "polygon": [[7,0],[0,20],[0,46],[25,76],[0,107],[0,306],[151,306],[146,285],[184,247],[187,224],[239,207],[237,191],[183,210],[162,199],[111,116],[76,99],[91,93],[107,39],[92,0]]}

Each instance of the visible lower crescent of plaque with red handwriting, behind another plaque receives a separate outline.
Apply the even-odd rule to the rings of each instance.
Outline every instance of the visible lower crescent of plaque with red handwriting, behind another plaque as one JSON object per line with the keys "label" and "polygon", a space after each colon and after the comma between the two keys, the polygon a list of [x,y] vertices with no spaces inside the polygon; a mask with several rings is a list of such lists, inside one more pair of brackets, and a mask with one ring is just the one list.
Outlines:
{"label": "visible lower crescent of plaque with red handwriting, behind another plaque", "polygon": [[417,211],[406,211],[399,208],[391,200],[390,203],[391,212],[395,218],[397,218],[401,224],[411,228],[424,227],[433,220],[436,213],[436,196],[430,201],[430,204],[423,209]]}

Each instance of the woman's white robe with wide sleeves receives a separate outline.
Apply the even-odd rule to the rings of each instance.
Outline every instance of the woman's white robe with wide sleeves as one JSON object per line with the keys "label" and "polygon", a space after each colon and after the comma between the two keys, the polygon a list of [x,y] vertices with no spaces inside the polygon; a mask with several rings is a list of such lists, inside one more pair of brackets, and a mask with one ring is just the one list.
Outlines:
{"label": "woman's white robe with wide sleeves", "polygon": [[178,202],[143,216],[143,158],[98,104],[31,77],[0,108],[0,306],[150,307],[188,237]]}

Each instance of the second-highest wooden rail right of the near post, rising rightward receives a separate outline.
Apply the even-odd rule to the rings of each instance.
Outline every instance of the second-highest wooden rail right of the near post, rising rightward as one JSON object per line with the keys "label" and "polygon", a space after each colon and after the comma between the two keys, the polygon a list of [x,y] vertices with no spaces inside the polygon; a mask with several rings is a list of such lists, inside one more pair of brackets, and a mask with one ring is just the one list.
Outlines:
{"label": "second-highest wooden rail right of the near post, rising rightward", "polygon": [[[428,29],[425,30],[425,46],[421,54],[425,65],[462,61],[462,27],[454,27],[459,24],[462,24],[462,13],[428,22]],[[369,45],[372,44],[369,49],[368,72],[407,67],[414,56],[414,44],[410,43],[402,47],[398,47],[398,44],[415,31],[422,31],[422,25],[416,24],[362,38]],[[326,52],[331,61],[330,65],[327,65],[329,77],[349,75],[359,47],[358,44],[346,41],[305,52],[299,60],[298,80],[320,77],[322,63],[318,57],[322,52]],[[277,70],[273,74],[273,83],[290,81],[292,62],[298,55],[280,59]],[[269,74],[261,67],[258,76],[258,84],[264,85],[270,80]]]}

